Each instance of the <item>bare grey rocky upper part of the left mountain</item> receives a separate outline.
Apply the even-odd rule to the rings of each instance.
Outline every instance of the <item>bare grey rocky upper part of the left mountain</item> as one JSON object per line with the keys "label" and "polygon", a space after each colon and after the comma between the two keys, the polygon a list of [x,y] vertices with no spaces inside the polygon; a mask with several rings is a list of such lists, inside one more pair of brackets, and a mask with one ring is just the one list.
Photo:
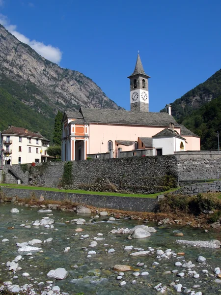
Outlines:
{"label": "bare grey rocky upper part of the left mountain", "polygon": [[[80,105],[118,109],[90,78],[44,59],[0,25],[1,78],[2,74],[55,110],[63,111]],[[32,101],[23,102],[30,107],[35,105]],[[38,111],[44,113],[41,107]]]}

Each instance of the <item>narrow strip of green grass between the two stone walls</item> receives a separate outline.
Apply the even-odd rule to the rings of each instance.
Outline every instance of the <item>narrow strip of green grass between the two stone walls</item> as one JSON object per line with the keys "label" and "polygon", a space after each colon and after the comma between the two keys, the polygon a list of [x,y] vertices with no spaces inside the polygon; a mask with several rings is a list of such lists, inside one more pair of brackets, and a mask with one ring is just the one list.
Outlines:
{"label": "narrow strip of green grass between the two stone walls", "polygon": [[117,197],[134,197],[134,198],[156,198],[158,195],[163,195],[172,191],[177,190],[177,188],[155,193],[155,194],[122,194],[122,193],[114,193],[114,192],[95,192],[95,191],[85,191],[85,190],[77,190],[77,189],[58,189],[53,187],[40,187],[40,186],[31,186],[31,185],[23,185],[23,184],[8,184],[8,183],[0,183],[0,186],[5,186],[9,188],[19,188],[19,189],[29,189],[29,190],[44,190],[44,191],[52,191],[52,192],[64,192],[64,193],[72,193],[72,194],[85,194],[85,195],[104,195],[104,196],[117,196]]}

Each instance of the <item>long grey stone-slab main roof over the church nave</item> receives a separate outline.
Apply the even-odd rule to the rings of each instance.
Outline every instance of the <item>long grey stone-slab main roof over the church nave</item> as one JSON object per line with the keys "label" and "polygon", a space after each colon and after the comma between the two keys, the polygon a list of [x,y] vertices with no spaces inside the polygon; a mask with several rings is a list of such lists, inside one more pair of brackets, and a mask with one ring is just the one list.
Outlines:
{"label": "long grey stone-slab main roof over the church nave", "polygon": [[[167,127],[172,122],[175,127],[179,124],[167,113],[132,112],[125,110],[81,108],[85,123],[123,124],[142,126]],[[74,118],[74,117],[68,117]],[[75,117],[76,118],[76,117]]]}

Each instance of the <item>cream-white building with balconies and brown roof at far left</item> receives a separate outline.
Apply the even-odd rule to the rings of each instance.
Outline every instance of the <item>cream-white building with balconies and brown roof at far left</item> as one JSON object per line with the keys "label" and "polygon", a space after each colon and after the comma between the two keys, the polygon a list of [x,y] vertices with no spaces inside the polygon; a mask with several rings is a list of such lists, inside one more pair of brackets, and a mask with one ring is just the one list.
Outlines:
{"label": "cream-white building with balconies and brown roof at far left", "polygon": [[1,165],[47,162],[49,143],[40,133],[9,125],[1,132]]}

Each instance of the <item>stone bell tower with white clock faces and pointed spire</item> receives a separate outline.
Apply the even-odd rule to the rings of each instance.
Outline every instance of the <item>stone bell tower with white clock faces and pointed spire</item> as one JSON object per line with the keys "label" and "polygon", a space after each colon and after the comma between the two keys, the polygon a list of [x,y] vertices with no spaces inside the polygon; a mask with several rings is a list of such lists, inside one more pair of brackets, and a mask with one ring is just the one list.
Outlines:
{"label": "stone bell tower with white clock faces and pointed spire", "polygon": [[148,76],[143,69],[141,59],[139,57],[130,79],[130,101],[131,111],[149,112],[149,91],[148,91]]}

